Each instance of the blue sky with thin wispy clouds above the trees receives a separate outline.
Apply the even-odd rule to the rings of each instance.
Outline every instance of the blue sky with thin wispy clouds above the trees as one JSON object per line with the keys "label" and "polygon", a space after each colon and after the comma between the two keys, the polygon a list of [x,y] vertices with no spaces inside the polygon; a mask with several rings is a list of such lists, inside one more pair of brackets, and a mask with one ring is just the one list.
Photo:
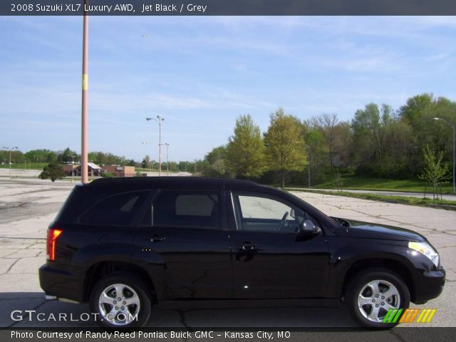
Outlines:
{"label": "blue sky with thin wispy clouds above the trees", "polygon": [[[81,152],[82,17],[0,17],[0,147]],[[453,16],[92,16],[89,150],[202,159],[239,115],[456,100]],[[162,152],[164,155],[164,152]]]}

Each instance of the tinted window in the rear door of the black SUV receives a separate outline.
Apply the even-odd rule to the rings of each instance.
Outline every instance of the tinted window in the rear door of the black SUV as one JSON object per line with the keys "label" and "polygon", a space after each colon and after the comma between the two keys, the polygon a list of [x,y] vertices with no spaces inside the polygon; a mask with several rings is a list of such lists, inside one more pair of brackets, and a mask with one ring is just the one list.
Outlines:
{"label": "tinted window in the rear door of the black SUV", "polygon": [[153,225],[219,229],[220,195],[217,191],[160,192],[153,204]]}

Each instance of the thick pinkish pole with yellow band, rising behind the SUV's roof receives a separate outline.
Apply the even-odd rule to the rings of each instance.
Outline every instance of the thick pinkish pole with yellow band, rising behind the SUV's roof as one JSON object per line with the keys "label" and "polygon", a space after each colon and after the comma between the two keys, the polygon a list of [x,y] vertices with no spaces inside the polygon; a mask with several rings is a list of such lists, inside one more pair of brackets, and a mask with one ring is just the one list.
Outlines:
{"label": "thick pinkish pole with yellow band, rising behind the SUV's roof", "polygon": [[[84,0],[84,9],[88,0]],[[81,118],[81,182],[88,183],[88,11],[83,24],[83,93]]]}

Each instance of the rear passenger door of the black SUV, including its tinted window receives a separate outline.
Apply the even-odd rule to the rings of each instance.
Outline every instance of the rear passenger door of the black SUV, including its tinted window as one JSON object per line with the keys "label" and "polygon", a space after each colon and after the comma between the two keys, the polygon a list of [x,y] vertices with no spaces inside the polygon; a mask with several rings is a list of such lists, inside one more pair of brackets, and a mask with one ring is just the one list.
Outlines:
{"label": "rear passenger door of the black SUV, including its tinted window", "polygon": [[132,261],[152,273],[159,299],[229,298],[232,269],[219,190],[162,190],[135,237]]}

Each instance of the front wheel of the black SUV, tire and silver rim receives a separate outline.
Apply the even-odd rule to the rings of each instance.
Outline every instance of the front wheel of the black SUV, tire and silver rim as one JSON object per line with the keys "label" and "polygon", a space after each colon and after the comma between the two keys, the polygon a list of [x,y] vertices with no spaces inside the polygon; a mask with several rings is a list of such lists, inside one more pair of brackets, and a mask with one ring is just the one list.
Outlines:
{"label": "front wheel of the black SUV, tire and silver rim", "polygon": [[366,328],[393,328],[383,323],[388,309],[408,309],[410,293],[400,276],[389,269],[367,269],[348,284],[346,304],[355,321]]}

